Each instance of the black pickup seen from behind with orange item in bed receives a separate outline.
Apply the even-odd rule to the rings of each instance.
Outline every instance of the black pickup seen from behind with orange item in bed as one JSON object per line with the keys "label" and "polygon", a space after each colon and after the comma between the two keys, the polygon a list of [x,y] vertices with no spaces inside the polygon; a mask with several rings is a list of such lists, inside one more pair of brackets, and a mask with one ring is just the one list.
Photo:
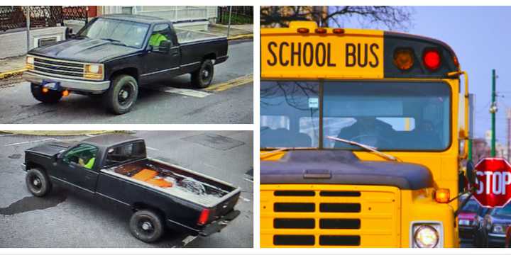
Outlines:
{"label": "black pickup seen from behind with orange item in bed", "polygon": [[131,234],[144,242],[158,240],[165,226],[207,236],[240,214],[234,205],[241,188],[150,159],[144,140],[132,135],[47,142],[27,149],[22,167],[34,196],[45,196],[57,184],[126,206],[133,211]]}

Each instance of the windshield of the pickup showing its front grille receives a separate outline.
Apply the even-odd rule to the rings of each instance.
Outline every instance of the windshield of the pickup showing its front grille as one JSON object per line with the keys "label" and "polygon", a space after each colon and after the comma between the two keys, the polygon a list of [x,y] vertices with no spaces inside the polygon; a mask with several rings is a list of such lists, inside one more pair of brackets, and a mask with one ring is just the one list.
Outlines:
{"label": "windshield of the pickup showing its front grille", "polygon": [[111,18],[97,18],[78,34],[79,37],[109,40],[128,47],[141,48],[148,24],[119,21]]}

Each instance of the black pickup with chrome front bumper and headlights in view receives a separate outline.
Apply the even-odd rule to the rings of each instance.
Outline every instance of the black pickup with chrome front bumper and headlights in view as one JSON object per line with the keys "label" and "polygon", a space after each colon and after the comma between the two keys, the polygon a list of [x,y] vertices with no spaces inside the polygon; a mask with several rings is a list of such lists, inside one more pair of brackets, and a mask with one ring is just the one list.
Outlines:
{"label": "black pickup with chrome front bumper and headlights in view", "polygon": [[227,48],[226,37],[175,28],[162,18],[106,15],[67,40],[30,50],[23,79],[43,103],[70,93],[103,95],[109,111],[123,114],[139,86],[188,73],[197,88],[209,86]]}

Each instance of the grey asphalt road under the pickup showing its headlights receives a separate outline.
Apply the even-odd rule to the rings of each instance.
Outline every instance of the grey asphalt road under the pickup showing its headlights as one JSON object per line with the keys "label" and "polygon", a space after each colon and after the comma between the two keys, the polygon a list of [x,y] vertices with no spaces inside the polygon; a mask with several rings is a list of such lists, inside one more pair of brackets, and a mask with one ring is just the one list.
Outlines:
{"label": "grey asphalt road under the pickup showing its headlights", "polygon": [[[224,84],[253,73],[253,42],[231,41],[229,59],[215,66],[211,86]],[[0,86],[0,123],[253,123],[253,84],[251,79],[238,86],[226,85],[221,91],[193,89],[189,74],[163,84],[141,88],[130,113],[112,115],[100,98],[71,94],[55,104],[36,101],[28,82]],[[5,84],[2,82],[2,84]]]}

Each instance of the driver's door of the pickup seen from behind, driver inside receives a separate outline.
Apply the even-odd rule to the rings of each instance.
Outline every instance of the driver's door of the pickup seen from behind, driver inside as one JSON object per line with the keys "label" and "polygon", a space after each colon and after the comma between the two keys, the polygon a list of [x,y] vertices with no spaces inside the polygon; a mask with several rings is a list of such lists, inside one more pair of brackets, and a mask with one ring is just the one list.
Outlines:
{"label": "driver's door of the pickup seen from behind, driver inside", "polygon": [[99,176],[94,171],[97,164],[99,149],[93,145],[80,144],[69,149],[57,160],[57,171],[63,181],[85,191],[94,193]]}

